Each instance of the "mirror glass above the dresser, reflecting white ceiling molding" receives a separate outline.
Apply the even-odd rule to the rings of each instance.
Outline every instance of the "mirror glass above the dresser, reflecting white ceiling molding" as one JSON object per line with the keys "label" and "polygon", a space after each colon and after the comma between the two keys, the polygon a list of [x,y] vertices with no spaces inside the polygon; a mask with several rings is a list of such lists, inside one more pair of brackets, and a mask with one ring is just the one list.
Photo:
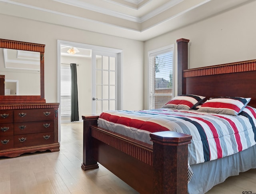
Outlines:
{"label": "mirror glass above the dresser, reflecting white ceiling molding", "polygon": [[40,95],[40,52],[0,48],[4,95]]}

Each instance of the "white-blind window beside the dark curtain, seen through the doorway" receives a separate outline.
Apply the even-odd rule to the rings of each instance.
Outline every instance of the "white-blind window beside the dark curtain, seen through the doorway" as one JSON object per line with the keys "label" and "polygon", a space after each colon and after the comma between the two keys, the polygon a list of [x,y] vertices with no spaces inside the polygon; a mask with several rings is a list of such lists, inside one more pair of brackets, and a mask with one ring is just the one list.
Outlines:
{"label": "white-blind window beside the dark curtain, seen through the doorway", "polygon": [[61,65],[60,116],[71,116],[71,70],[70,65]]}

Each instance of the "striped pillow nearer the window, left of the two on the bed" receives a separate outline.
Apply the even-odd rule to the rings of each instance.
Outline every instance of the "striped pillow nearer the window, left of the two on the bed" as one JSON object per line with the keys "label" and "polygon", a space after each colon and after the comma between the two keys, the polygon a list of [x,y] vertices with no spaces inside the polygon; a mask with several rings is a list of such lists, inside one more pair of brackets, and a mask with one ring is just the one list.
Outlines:
{"label": "striped pillow nearer the window, left of the two on the bed", "polygon": [[167,102],[162,108],[177,108],[189,110],[196,107],[204,100],[205,96],[198,96],[194,94],[189,95],[180,95],[172,98],[169,102]]}

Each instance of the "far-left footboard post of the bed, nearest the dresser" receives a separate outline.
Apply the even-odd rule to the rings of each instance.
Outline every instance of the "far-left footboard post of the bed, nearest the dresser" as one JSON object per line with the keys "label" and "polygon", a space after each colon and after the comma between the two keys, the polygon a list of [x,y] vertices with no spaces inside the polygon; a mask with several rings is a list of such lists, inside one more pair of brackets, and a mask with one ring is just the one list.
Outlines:
{"label": "far-left footboard post of the bed, nearest the dresser", "polygon": [[82,116],[84,120],[84,135],[83,135],[83,163],[81,168],[83,170],[90,170],[99,168],[96,160],[93,159],[93,145],[91,136],[91,126],[97,126],[99,116]]}

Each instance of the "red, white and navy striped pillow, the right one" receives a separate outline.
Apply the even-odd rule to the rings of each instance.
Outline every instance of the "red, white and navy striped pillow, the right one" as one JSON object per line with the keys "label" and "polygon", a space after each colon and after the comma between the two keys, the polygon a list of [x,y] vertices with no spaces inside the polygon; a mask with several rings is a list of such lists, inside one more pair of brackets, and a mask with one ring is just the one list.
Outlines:
{"label": "red, white and navy striped pillow, the right one", "polygon": [[251,98],[242,97],[217,97],[206,100],[198,109],[200,112],[214,112],[237,116],[250,102]]}

